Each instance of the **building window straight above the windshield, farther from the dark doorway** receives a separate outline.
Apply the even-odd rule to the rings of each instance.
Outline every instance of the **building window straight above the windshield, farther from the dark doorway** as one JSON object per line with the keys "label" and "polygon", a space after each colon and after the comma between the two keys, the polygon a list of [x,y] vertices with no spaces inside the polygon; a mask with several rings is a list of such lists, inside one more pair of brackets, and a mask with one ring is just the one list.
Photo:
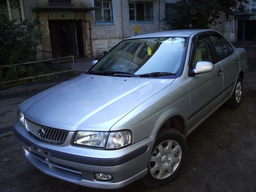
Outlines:
{"label": "building window straight above the windshield, farther from the dark doorway", "polygon": [[130,2],[130,22],[153,22],[153,4],[151,2]]}

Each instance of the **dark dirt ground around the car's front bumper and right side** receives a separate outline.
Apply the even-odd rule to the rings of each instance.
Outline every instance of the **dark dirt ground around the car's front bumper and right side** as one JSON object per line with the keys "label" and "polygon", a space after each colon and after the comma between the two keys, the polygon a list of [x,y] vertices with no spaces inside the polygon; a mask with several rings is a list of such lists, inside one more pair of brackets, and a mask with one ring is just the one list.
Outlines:
{"label": "dark dirt ground around the car's front bumper and right side", "polygon": [[0,191],[256,191],[256,72],[243,85],[240,108],[222,106],[187,137],[186,163],[169,184],[99,190],[60,181],[35,169],[12,134],[0,138]]}

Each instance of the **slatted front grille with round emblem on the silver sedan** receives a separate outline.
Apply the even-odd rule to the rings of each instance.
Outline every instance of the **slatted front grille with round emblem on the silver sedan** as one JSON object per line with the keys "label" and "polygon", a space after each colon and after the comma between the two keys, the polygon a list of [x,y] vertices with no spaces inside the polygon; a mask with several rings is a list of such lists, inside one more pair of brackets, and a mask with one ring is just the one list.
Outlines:
{"label": "slatted front grille with round emblem on the silver sedan", "polygon": [[50,144],[62,144],[69,135],[68,131],[57,130],[46,126],[41,126],[33,123],[30,120],[25,120],[26,130],[29,135],[40,142],[47,142]]}

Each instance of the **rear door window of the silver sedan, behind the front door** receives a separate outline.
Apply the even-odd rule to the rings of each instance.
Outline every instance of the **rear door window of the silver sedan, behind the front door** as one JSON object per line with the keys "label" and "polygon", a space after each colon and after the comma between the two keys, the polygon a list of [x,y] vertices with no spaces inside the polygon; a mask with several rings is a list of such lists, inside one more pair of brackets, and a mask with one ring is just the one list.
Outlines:
{"label": "rear door window of the silver sedan, behind the front door", "polygon": [[211,35],[212,44],[215,48],[217,54],[217,60],[221,60],[230,56],[233,53],[233,47],[231,44],[222,36],[219,35]]}

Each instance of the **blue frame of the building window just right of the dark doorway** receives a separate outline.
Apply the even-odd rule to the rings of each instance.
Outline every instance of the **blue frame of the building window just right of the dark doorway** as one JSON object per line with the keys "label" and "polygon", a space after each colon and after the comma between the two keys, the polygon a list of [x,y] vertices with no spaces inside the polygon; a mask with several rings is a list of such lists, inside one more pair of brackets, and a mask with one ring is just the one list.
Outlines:
{"label": "blue frame of the building window just right of the dark doorway", "polygon": [[[113,17],[113,3],[112,0],[94,0],[94,6],[98,7],[96,3],[100,3],[100,10],[95,10],[94,12],[94,18],[96,24],[113,24],[114,23],[114,17]],[[108,8],[105,7],[105,3],[108,3]],[[100,20],[98,19],[98,12],[100,11]],[[108,11],[108,16],[106,16]],[[108,20],[109,18],[109,20]]]}

